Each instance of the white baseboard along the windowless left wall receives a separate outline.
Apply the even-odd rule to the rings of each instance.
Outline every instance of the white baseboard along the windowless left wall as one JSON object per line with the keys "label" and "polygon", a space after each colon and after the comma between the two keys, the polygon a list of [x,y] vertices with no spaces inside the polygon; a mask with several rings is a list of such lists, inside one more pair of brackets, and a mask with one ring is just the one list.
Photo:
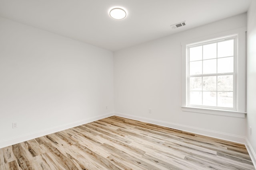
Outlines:
{"label": "white baseboard along the windowless left wall", "polygon": [[31,140],[31,139],[35,139],[35,138],[38,138],[38,137],[42,137],[44,135],[49,135],[49,134],[52,134],[52,133],[63,131],[65,129],[69,129],[69,128],[76,127],[76,126],[79,126],[79,125],[90,123],[92,121],[96,121],[96,120],[99,120],[99,119],[110,117],[112,115],[114,115],[114,112],[107,113],[107,114],[102,114],[102,115],[99,115],[99,116],[96,116],[96,117],[90,117],[88,119],[84,119],[84,120],[81,120],[81,121],[76,121],[76,122],[69,123],[69,124],[66,124],[66,125],[60,125],[60,126],[44,129],[42,131],[37,131],[37,132],[34,132],[34,133],[30,133],[30,134],[21,135],[21,136],[18,136],[18,137],[6,139],[4,141],[0,141],[0,148],[8,147],[10,145],[14,145],[14,144],[21,143],[21,142],[24,142],[24,141],[28,141],[28,140]]}

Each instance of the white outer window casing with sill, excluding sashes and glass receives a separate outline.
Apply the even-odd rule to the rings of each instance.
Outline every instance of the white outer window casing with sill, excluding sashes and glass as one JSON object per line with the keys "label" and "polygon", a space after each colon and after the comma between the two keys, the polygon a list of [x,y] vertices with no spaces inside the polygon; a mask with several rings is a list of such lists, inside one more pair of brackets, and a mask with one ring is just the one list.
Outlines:
{"label": "white outer window casing with sill, excluding sashes and glass", "polygon": [[[222,109],[210,109],[203,107],[190,107],[187,105],[187,60],[186,60],[186,45],[201,41],[207,41],[210,39],[216,39],[218,37],[226,37],[229,35],[238,35],[238,54],[235,63],[237,64],[237,101],[236,110],[222,110]],[[222,33],[208,35],[193,39],[190,41],[182,42],[182,111],[206,113],[214,115],[224,115],[232,117],[245,117],[246,115],[246,27],[225,31]]]}

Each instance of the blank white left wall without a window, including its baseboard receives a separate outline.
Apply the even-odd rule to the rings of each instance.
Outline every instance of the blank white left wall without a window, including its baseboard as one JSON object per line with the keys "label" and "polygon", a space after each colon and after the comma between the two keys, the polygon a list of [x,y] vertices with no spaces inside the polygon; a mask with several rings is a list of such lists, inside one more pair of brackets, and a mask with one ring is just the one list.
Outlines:
{"label": "blank white left wall without a window, including its baseboard", "polygon": [[113,86],[111,51],[0,18],[0,148],[112,115]]}

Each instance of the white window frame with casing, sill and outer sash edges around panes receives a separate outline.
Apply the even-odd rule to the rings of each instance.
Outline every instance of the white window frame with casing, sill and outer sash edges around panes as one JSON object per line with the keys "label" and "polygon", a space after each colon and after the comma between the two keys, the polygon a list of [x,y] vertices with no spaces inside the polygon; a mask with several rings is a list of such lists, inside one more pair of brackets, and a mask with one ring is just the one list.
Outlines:
{"label": "white window frame with casing, sill and outer sash edges around panes", "polygon": [[[233,76],[233,100],[234,108],[211,107],[188,105],[188,59],[187,46],[198,45],[202,43],[212,43],[214,41],[225,40],[236,36],[236,53],[234,53],[234,74]],[[206,113],[214,115],[225,115],[232,117],[245,117],[246,115],[246,27],[208,35],[182,42],[182,111]],[[236,83],[234,83],[236,82]],[[235,90],[236,89],[236,90]],[[234,94],[236,91],[236,94]]]}

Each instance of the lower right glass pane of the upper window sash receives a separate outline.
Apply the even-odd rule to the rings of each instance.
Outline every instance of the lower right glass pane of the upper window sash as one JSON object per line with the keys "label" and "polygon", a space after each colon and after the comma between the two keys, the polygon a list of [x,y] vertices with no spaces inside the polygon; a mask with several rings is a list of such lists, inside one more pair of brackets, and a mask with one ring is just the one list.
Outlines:
{"label": "lower right glass pane of the upper window sash", "polygon": [[234,57],[218,59],[218,73],[234,72]]}

